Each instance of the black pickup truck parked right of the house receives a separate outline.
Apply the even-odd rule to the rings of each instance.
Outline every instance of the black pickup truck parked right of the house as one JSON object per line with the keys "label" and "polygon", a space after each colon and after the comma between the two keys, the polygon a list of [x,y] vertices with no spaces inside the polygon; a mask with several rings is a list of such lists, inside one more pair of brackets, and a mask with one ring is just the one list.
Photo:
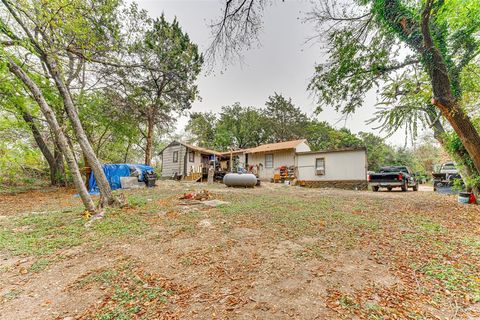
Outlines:
{"label": "black pickup truck parked right of the house", "polygon": [[418,191],[415,174],[404,166],[383,167],[380,172],[368,175],[368,184],[373,191],[380,188],[386,188],[388,191],[392,191],[393,188],[401,188],[402,191],[412,188],[413,191]]}

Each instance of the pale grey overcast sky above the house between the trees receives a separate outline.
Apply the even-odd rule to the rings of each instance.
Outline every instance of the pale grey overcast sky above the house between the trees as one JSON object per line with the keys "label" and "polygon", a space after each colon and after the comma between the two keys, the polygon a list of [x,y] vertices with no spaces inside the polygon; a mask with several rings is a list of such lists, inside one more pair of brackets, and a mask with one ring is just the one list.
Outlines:
{"label": "pale grey overcast sky above the house between the trees", "polygon": [[[217,19],[223,9],[222,0],[137,0],[140,7],[149,11],[152,17],[162,12],[166,17],[175,16],[192,41],[202,51],[211,42],[209,23]],[[198,80],[201,101],[193,104],[192,111],[220,111],[222,106],[240,102],[243,106],[262,107],[269,95],[274,92],[291,97],[295,105],[308,115],[313,115],[315,101],[306,90],[313,75],[314,66],[324,61],[319,44],[306,43],[314,35],[311,24],[304,23],[305,13],[311,9],[309,0],[273,1],[264,15],[263,29],[260,34],[261,46],[244,53],[242,63],[236,63],[214,74],[202,74]],[[346,126],[352,132],[369,131],[380,134],[367,125],[375,111],[375,95],[366,99],[363,108],[347,121],[332,108],[324,108],[317,116],[336,128]],[[182,131],[187,118],[178,121],[177,131]],[[380,134],[381,135],[381,134]],[[403,145],[403,133],[397,133],[388,141]]]}

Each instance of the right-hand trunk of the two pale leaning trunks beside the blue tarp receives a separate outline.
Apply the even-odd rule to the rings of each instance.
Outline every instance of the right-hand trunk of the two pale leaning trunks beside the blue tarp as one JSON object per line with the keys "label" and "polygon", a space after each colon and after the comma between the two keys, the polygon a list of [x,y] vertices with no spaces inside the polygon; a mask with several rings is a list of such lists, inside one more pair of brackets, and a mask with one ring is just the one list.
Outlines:
{"label": "right-hand trunk of the two pale leaning trunks beside the blue tarp", "polygon": [[95,152],[88,141],[87,135],[83,129],[82,123],[80,122],[80,118],[78,117],[78,112],[73,103],[73,99],[70,95],[70,92],[65,85],[64,81],[62,80],[62,76],[58,71],[58,66],[55,61],[50,59],[49,57],[44,57],[44,61],[47,65],[47,68],[52,76],[55,85],[62,97],[63,104],[67,115],[72,123],[73,130],[75,131],[75,135],[77,137],[78,143],[82,148],[83,153],[88,159],[88,163],[92,168],[93,174],[95,175],[95,180],[97,182],[98,188],[100,190],[100,206],[106,205],[117,205],[120,201],[113,195],[112,189],[110,188],[110,184],[108,183],[107,177],[103,172],[102,165],[98,160]]}

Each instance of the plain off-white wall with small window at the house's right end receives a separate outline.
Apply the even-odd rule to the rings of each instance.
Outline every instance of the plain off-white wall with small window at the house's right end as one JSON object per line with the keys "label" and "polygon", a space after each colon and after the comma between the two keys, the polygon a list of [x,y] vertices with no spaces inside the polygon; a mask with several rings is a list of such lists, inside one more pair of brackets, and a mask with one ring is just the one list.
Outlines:
{"label": "plain off-white wall with small window at the house's right end", "polygon": [[[315,159],[325,158],[325,175],[317,175]],[[364,150],[297,154],[298,180],[366,180],[367,156]]]}

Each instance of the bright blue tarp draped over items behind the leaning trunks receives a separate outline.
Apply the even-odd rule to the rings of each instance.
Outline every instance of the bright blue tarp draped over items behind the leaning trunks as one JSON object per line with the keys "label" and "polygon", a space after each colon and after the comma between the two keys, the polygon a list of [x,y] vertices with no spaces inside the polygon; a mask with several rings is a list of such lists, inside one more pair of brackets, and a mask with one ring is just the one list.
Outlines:
{"label": "bright blue tarp draped over items behind the leaning trunks", "polygon": [[[105,172],[105,176],[107,176],[108,183],[112,190],[116,190],[121,188],[120,177],[138,176],[139,181],[144,181],[143,174],[145,172],[153,172],[153,168],[144,164],[104,164],[103,172]],[[88,190],[91,194],[98,194],[97,181],[95,180],[93,172],[88,181]]]}

